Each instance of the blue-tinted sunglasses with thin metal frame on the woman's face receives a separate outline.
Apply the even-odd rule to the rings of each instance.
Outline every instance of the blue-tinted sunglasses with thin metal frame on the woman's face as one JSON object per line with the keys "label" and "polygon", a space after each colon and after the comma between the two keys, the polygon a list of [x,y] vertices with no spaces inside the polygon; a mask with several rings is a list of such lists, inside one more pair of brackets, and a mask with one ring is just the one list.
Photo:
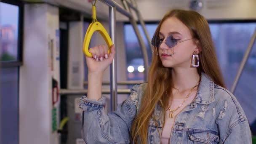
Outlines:
{"label": "blue-tinted sunglasses with thin metal frame on the woman's face", "polygon": [[[193,38],[190,38],[190,39],[187,39],[187,40],[191,40],[191,39],[193,39]],[[172,35],[168,36],[165,41],[163,41],[163,40],[164,40],[163,38],[160,38],[160,37],[158,37],[158,36],[155,36],[155,37],[152,38],[151,44],[152,44],[154,47],[159,48],[162,43],[165,43],[169,48],[173,48],[173,47],[174,47],[175,45],[177,45],[178,43],[187,41],[187,40],[179,41],[179,40],[181,40],[181,39],[175,39],[175,38],[173,38]]]}

